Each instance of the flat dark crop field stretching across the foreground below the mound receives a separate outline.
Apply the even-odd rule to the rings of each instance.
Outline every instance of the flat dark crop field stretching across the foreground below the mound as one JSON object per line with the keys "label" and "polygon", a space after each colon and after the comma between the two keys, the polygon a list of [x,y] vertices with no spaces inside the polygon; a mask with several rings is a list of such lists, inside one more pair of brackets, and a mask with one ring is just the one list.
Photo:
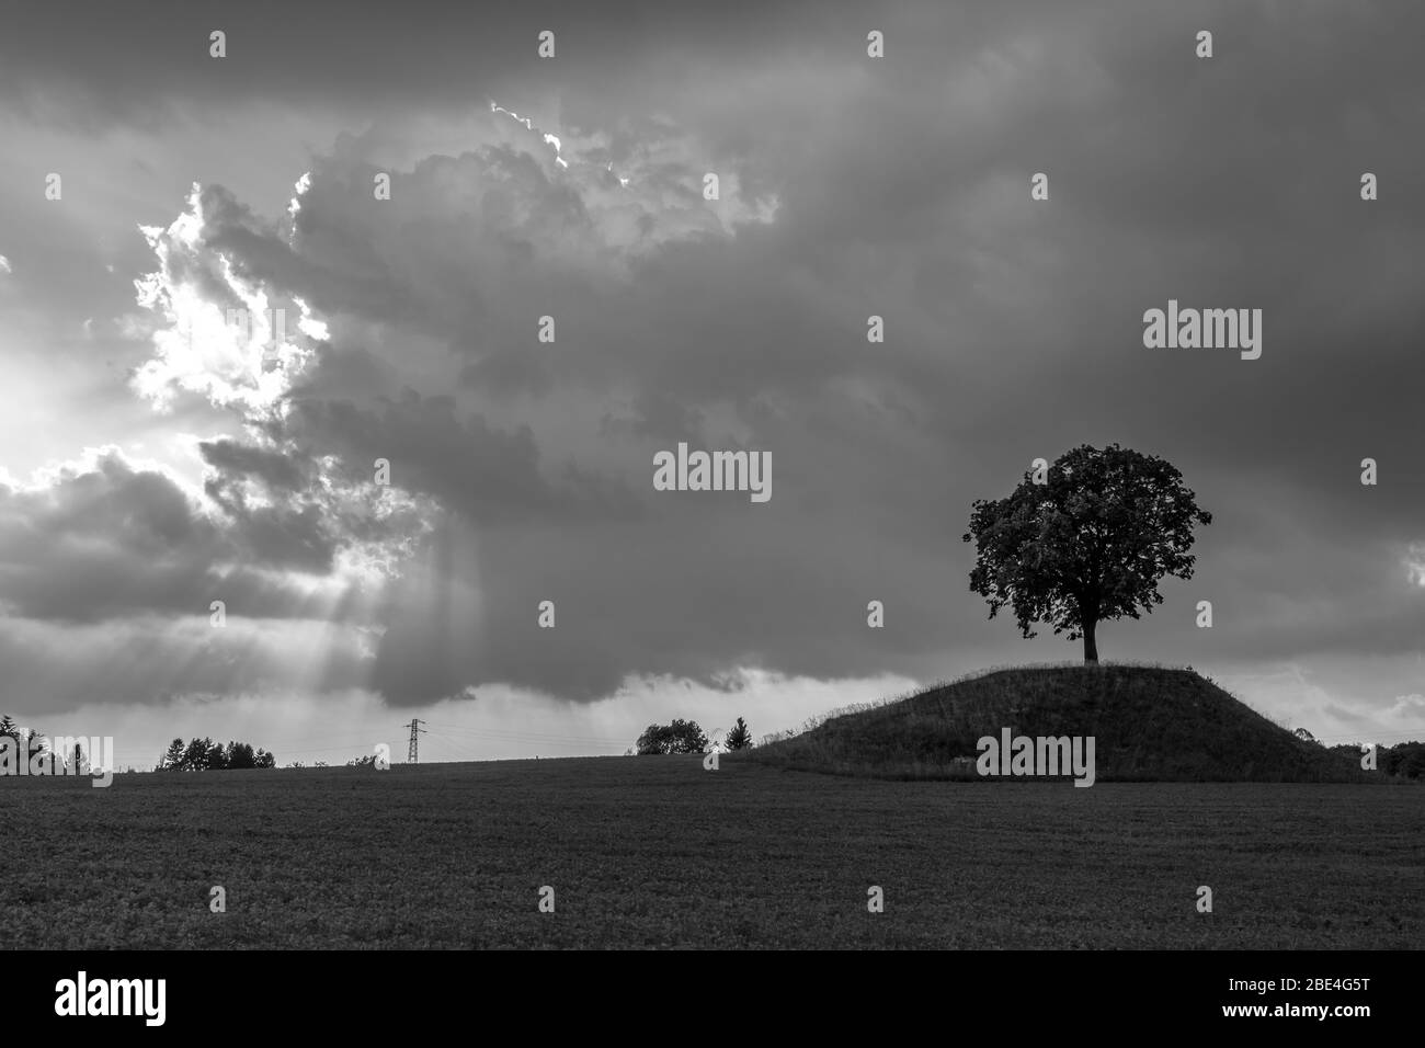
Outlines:
{"label": "flat dark crop field stretching across the foreground below the mound", "polygon": [[0,947],[1418,948],[1422,797],[737,756],[6,779]]}

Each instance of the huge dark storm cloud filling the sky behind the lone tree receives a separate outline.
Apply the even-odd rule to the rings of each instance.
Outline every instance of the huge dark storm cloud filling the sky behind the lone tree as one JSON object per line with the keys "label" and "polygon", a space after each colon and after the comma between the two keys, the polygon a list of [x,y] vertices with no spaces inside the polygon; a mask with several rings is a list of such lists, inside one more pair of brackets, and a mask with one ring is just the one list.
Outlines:
{"label": "huge dark storm cloud filling the sky behind the lone tree", "polygon": [[[164,71],[83,43],[0,76],[108,77],[105,120],[172,104],[175,84],[369,100],[378,124],[554,100],[543,130],[569,170],[530,133],[402,164],[373,207],[380,168],[348,137],[314,160],[295,241],[204,192],[205,237],[241,274],[370,325],[318,349],[272,448],[292,471],[386,458],[449,515],[389,596],[373,680],[392,700],[1069,657],[985,622],[959,535],[975,498],[1080,442],[1166,456],[1216,518],[1198,577],[1113,626],[1110,657],[1418,650],[1425,11],[1072,7],[255,7],[225,13],[225,63],[207,58],[212,17],[185,9],[135,44],[168,51]],[[261,36],[265,17],[284,31]],[[560,58],[540,66],[544,27]],[[884,60],[865,57],[871,27]],[[175,40],[198,57],[174,60]],[[728,221],[698,198],[705,170],[738,187]],[[1362,171],[1379,201],[1359,200]],[[1261,308],[1261,359],[1146,349],[1143,312],[1168,298]],[[544,314],[551,345],[533,338]],[[866,342],[871,314],[885,344]],[[457,388],[412,375],[416,338],[447,348]],[[656,496],[651,453],[680,439],[771,451],[772,502]],[[286,475],[214,453],[228,478]],[[1357,479],[1365,456],[1378,488]],[[546,599],[554,630],[536,626]],[[866,629],[871,599],[885,630]],[[1193,627],[1198,599],[1214,630]]]}

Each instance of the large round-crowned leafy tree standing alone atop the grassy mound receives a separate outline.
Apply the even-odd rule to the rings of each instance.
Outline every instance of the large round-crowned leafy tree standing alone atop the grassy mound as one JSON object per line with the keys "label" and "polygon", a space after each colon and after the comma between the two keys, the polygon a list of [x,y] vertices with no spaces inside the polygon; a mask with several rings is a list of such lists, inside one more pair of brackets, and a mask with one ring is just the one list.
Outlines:
{"label": "large round-crowned leafy tree standing alone atop the grassy mound", "polygon": [[965,542],[975,542],[970,589],[989,617],[1009,605],[1020,633],[1045,622],[1069,640],[1083,637],[1083,660],[1099,662],[1100,622],[1151,612],[1159,579],[1193,577],[1197,508],[1168,462],[1116,443],[1083,445],[1047,471],[1025,473],[1005,499],[976,499]]}

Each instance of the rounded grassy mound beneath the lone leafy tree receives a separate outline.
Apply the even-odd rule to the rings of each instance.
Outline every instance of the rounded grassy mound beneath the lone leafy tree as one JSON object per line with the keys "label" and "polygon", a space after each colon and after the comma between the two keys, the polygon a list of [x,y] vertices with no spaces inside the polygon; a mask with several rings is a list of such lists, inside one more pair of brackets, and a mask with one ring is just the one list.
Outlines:
{"label": "rounded grassy mound beneath the lone leafy tree", "polygon": [[[982,736],[1093,736],[1099,781],[1381,781],[1304,741],[1193,670],[995,670],[824,720],[754,750],[782,767],[875,779],[979,779]],[[960,759],[960,760],[956,760]],[[1019,781],[1023,781],[1020,779]]]}

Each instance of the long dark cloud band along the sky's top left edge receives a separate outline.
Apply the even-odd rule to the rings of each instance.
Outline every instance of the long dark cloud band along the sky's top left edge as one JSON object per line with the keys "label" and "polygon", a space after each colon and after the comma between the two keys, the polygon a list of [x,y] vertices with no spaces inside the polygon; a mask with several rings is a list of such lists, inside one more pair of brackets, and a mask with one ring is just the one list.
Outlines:
{"label": "long dark cloud band along the sky's top left edge", "polygon": [[[161,121],[181,98],[271,98],[284,104],[356,100],[366,104],[475,104],[512,78],[577,91],[608,81],[637,84],[637,67],[675,64],[688,54],[755,66],[807,27],[834,26],[865,37],[862,4],[770,6],[755,19],[715,4],[670,9],[660,0],[577,1],[532,7],[517,0],[402,4],[309,0],[194,3],[145,0],[77,13],[40,0],[7,9],[0,37],[0,96],[53,114],[71,96],[68,117]],[[209,33],[224,30],[228,57],[209,57]],[[557,33],[557,58],[540,64],[543,30]]]}

